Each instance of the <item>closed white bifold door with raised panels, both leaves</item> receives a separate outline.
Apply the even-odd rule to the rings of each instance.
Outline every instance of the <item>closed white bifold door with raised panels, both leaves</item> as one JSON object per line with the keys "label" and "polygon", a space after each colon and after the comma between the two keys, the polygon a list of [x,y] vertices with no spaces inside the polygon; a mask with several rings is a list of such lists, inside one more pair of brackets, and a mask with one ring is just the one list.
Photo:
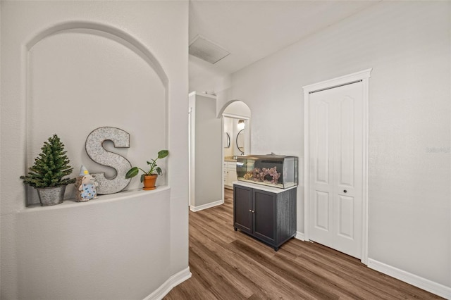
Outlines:
{"label": "closed white bifold door with raised panels, both leaves", "polygon": [[364,85],[309,96],[309,239],[362,258]]}

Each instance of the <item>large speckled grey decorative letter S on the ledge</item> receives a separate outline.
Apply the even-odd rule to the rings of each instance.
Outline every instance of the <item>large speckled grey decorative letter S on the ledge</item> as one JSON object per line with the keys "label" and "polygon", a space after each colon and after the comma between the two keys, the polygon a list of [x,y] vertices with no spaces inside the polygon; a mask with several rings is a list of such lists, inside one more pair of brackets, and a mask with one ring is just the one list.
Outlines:
{"label": "large speckled grey decorative letter S on the ledge", "polygon": [[132,164],[123,156],[106,151],[102,145],[104,141],[111,140],[116,148],[130,147],[130,134],[116,127],[100,127],[93,130],[86,139],[86,153],[93,161],[101,165],[114,168],[116,177],[107,179],[105,173],[94,174],[99,186],[97,194],[114,194],[121,192],[131,179],[125,178],[125,173],[132,168]]}

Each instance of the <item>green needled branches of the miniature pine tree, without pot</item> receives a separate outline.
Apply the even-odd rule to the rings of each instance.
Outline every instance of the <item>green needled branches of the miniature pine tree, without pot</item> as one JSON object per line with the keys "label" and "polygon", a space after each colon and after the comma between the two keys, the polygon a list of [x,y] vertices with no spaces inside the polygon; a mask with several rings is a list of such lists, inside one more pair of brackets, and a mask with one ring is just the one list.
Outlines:
{"label": "green needled branches of the miniature pine tree, without pot", "polygon": [[75,178],[63,178],[70,175],[73,168],[58,135],[49,137],[41,150],[28,174],[20,176],[24,183],[32,187],[60,187],[75,182]]}

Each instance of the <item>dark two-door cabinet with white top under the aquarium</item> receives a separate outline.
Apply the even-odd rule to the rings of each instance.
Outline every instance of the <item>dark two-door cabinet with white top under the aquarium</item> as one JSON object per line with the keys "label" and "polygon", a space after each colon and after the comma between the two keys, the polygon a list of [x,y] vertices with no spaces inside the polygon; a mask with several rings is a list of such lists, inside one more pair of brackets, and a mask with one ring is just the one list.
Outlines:
{"label": "dark two-door cabinet with white top under the aquarium", "polygon": [[277,251],[296,235],[297,188],[268,189],[251,185],[233,185],[233,227]]}

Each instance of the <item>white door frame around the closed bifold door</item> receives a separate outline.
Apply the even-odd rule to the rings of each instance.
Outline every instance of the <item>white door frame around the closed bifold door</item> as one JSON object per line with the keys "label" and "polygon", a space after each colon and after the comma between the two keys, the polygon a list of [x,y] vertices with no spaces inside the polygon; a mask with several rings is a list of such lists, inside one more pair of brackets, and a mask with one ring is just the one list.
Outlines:
{"label": "white door frame around the closed bifold door", "polygon": [[364,101],[364,137],[363,137],[363,199],[362,199],[362,263],[368,264],[368,198],[369,198],[369,77],[371,69],[362,70],[357,73],[345,75],[331,80],[318,82],[313,85],[306,85],[304,89],[304,240],[309,240],[309,95],[311,92],[319,92],[322,89],[331,89],[352,82],[362,81],[364,91],[362,99]]}

